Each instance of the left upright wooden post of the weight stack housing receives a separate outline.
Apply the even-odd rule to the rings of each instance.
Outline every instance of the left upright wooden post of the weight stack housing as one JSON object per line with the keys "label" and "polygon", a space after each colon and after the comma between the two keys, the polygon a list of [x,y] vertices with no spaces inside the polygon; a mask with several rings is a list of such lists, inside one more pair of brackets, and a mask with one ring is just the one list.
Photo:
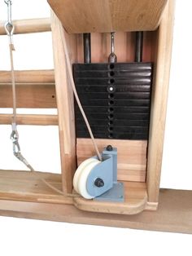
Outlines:
{"label": "left upright wooden post of the weight stack housing", "polygon": [[76,35],[68,35],[57,16],[51,14],[55,62],[55,90],[59,117],[59,142],[63,192],[72,192],[72,177],[76,170],[76,134],[72,86],[68,79],[63,33],[67,39],[72,62],[76,61]]}

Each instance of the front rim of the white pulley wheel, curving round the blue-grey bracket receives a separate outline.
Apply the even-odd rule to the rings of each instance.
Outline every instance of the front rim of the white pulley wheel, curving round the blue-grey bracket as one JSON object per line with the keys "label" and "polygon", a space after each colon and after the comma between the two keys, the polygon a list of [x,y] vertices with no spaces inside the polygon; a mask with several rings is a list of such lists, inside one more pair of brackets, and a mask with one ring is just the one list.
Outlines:
{"label": "front rim of the white pulley wheel, curving round the blue-grey bracket", "polygon": [[81,174],[79,175],[78,183],[77,183],[77,189],[78,192],[86,199],[94,198],[94,196],[89,195],[86,188],[87,179],[89,176],[89,173],[93,170],[95,166],[97,166],[101,161],[98,161],[97,159],[94,159],[94,161],[90,161],[87,166],[81,171]]}

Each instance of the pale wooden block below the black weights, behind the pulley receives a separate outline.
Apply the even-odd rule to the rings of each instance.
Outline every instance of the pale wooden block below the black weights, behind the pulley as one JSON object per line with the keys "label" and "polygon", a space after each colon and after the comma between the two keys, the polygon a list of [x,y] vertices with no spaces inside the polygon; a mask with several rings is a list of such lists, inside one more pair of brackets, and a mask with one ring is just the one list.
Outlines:
{"label": "pale wooden block below the black weights, behind the pulley", "polygon": [[[118,180],[140,181],[146,180],[146,146],[142,140],[96,139],[100,152],[108,144],[118,149]],[[91,139],[76,139],[77,164],[95,155]]]}

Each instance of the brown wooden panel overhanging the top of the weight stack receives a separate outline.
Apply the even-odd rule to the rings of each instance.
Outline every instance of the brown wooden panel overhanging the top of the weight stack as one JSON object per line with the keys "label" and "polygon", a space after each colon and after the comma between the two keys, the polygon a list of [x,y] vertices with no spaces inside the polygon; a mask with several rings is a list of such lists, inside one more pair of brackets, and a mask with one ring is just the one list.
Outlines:
{"label": "brown wooden panel overhanging the top of the weight stack", "polygon": [[68,33],[155,30],[167,0],[48,0]]}

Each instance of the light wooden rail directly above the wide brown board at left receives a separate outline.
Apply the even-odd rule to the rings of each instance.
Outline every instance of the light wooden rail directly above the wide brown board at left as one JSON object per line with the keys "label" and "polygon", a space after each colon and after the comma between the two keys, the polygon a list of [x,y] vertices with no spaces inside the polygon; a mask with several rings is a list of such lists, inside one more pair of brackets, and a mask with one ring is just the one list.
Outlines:
{"label": "light wooden rail directly above the wide brown board at left", "polygon": [[[11,72],[0,71],[0,83],[11,83]],[[55,74],[52,69],[44,70],[15,70],[15,82],[18,83],[43,83],[55,82]]]}

